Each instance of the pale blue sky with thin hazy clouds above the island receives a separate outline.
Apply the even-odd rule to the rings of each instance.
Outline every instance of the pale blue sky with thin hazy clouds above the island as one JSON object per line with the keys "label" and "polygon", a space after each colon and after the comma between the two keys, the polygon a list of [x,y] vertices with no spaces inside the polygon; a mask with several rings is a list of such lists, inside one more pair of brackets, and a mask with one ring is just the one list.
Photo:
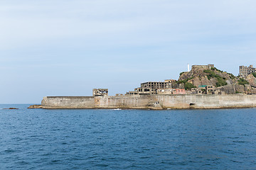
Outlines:
{"label": "pale blue sky with thin hazy clouds above the island", "polygon": [[256,67],[255,0],[1,0],[0,103]]}

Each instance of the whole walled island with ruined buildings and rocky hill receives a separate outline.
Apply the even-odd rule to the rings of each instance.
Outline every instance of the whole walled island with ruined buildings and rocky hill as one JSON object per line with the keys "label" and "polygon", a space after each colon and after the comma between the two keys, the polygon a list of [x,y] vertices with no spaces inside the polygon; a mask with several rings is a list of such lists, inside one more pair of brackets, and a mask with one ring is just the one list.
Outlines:
{"label": "whole walled island with ruined buildings and rocky hill", "polygon": [[223,72],[214,64],[193,65],[178,80],[149,81],[126,94],[108,96],[108,89],[92,89],[92,96],[46,96],[29,108],[87,109],[212,109],[256,107],[256,69],[240,66],[240,74]]}

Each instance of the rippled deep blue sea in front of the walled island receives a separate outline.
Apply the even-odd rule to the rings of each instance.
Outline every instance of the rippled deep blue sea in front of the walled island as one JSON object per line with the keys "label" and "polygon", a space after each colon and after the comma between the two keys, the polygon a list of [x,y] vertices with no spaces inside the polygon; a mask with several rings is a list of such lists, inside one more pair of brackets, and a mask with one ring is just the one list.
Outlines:
{"label": "rippled deep blue sea in front of the walled island", "polygon": [[0,105],[0,169],[256,169],[256,109]]}

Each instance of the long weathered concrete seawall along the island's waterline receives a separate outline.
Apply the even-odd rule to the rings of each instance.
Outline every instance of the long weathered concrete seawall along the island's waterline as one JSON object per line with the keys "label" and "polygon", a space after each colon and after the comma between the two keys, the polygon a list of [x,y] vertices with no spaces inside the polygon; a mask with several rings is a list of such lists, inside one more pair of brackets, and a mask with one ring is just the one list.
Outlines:
{"label": "long weathered concrete seawall along the island's waterline", "polygon": [[47,96],[29,108],[188,109],[252,108],[256,95]]}

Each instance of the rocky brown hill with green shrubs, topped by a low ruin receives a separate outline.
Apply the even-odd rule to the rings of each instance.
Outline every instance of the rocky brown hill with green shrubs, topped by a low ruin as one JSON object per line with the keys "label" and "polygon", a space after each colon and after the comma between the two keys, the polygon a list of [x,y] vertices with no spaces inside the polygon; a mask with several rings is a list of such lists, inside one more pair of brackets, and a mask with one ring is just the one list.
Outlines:
{"label": "rocky brown hill with green shrubs, topped by a low ruin", "polygon": [[226,94],[255,94],[256,73],[242,78],[216,69],[212,64],[196,65],[192,66],[190,72],[181,72],[178,81],[174,84],[175,87],[186,90],[206,85],[215,86]]}

